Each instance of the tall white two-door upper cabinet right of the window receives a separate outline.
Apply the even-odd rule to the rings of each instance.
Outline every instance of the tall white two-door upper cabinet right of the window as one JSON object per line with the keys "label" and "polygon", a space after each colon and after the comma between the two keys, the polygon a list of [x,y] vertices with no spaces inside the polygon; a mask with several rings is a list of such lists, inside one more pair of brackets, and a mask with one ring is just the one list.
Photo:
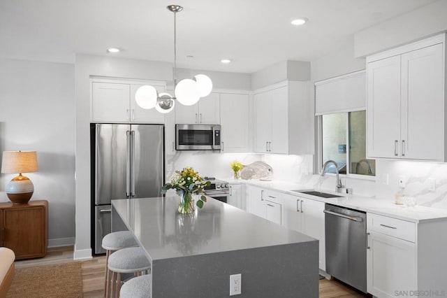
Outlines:
{"label": "tall white two-door upper cabinet right of the window", "polygon": [[444,45],[441,34],[367,58],[369,158],[445,161]]}

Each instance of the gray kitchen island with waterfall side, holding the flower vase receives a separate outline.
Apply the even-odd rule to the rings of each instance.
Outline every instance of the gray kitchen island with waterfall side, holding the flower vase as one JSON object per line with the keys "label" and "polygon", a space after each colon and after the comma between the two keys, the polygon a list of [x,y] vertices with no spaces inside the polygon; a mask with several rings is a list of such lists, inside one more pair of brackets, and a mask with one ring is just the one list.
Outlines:
{"label": "gray kitchen island with waterfall side, holding the flower vase", "polygon": [[152,262],[152,297],[228,297],[231,274],[242,274],[238,297],[318,297],[317,240],[212,198],[193,215],[177,206],[112,201]]}

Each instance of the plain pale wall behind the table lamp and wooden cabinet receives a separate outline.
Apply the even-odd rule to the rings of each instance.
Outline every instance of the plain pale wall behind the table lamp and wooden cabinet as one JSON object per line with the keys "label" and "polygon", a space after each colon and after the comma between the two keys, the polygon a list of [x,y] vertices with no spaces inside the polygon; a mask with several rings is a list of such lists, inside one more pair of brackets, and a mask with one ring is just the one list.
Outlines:
{"label": "plain pale wall behind the table lamp and wooden cabinet", "polygon": [[[75,103],[73,64],[0,59],[0,149],[36,150],[31,200],[49,203],[50,246],[75,236]],[[0,175],[0,201],[13,174]]]}

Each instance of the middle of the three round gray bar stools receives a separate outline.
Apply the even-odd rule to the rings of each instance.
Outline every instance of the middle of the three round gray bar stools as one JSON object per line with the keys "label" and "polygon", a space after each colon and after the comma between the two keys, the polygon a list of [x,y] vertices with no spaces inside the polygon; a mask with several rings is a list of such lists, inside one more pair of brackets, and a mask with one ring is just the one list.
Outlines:
{"label": "middle of the three round gray bar stools", "polygon": [[123,248],[112,253],[108,260],[110,278],[110,297],[119,297],[122,274],[141,276],[150,273],[151,264],[141,248]]}

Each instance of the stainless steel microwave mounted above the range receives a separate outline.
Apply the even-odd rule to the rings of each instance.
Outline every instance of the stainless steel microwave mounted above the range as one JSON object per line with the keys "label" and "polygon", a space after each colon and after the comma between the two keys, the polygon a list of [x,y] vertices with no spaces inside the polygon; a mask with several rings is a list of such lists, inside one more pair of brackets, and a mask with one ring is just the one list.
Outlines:
{"label": "stainless steel microwave mounted above the range", "polygon": [[175,149],[221,150],[221,126],[175,125]]}

